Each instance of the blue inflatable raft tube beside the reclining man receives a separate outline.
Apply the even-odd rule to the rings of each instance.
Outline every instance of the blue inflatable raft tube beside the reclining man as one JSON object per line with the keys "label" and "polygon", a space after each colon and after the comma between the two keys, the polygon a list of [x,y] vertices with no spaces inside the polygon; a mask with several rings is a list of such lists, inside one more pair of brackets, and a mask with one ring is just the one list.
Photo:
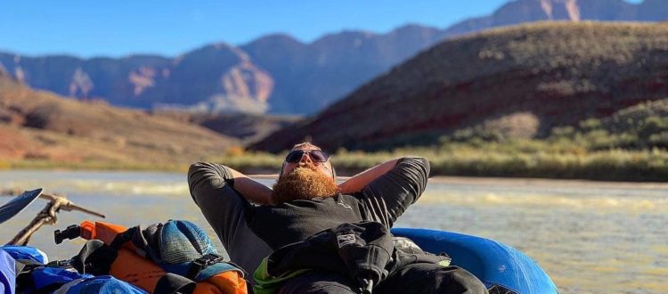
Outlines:
{"label": "blue inflatable raft tube beside the reclining man", "polygon": [[428,229],[392,229],[395,236],[407,237],[431,253],[444,252],[452,265],[477,276],[487,289],[517,294],[558,293],[557,286],[541,266],[521,251],[506,244],[465,235]]}

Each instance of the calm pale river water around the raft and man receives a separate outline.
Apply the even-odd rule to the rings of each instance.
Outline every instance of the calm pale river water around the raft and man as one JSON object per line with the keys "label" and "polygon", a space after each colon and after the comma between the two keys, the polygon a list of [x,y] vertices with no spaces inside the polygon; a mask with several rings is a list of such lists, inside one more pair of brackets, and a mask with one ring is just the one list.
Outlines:
{"label": "calm pale river water around the raft and man", "polygon": [[[263,180],[271,184],[270,180]],[[65,193],[120,225],[190,220],[208,230],[184,174],[145,172],[0,172],[0,190]],[[0,198],[0,204],[10,200]],[[43,208],[37,200],[1,227],[8,241]],[[53,230],[91,219],[61,213],[30,244],[52,259],[75,255],[83,241],[53,243]],[[94,218],[93,218],[94,219]],[[432,179],[396,227],[425,227],[501,241],[534,258],[561,293],[668,292],[668,184],[522,179]]]}

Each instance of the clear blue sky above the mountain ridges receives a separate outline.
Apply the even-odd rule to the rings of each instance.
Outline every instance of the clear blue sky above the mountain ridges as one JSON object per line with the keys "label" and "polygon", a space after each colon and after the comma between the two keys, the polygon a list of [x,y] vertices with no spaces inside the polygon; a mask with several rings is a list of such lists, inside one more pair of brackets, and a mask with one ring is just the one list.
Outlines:
{"label": "clear blue sky above the mountain ridges", "polygon": [[508,1],[4,0],[0,51],[33,56],[175,56],[214,42],[242,45],[276,32],[311,42],[342,29],[385,33],[406,23],[444,29],[492,13]]}

